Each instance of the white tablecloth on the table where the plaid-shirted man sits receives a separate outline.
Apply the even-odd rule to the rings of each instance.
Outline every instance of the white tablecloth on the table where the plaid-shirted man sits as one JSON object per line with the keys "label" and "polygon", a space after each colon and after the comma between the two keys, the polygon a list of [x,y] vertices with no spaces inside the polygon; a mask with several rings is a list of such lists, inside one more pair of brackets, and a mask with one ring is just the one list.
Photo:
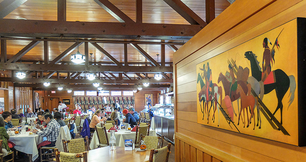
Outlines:
{"label": "white tablecloth on the table where the plaid-shirted man sits", "polygon": [[47,140],[46,137],[41,137],[36,134],[30,136],[29,132],[9,137],[9,141],[16,144],[14,147],[16,150],[32,154],[32,161],[38,157],[37,145],[45,140]]}

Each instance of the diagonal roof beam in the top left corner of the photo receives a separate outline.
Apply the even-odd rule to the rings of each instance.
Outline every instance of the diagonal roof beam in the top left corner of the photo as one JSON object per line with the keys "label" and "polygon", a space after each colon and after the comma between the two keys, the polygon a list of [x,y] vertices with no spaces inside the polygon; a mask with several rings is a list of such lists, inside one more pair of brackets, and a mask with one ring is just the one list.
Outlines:
{"label": "diagonal roof beam in the top left corner of the photo", "polygon": [[4,0],[0,3],[0,19],[17,9],[27,0]]}

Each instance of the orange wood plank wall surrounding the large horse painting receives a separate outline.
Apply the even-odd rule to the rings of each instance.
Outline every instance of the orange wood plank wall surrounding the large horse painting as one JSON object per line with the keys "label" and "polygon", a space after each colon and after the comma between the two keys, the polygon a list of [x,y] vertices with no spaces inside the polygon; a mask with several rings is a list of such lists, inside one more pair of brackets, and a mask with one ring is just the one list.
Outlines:
{"label": "orange wood plank wall surrounding the large horse painting", "polygon": [[306,147],[196,122],[196,64],[306,17],[305,9],[306,0],[236,0],[174,53],[175,161],[305,161]]}

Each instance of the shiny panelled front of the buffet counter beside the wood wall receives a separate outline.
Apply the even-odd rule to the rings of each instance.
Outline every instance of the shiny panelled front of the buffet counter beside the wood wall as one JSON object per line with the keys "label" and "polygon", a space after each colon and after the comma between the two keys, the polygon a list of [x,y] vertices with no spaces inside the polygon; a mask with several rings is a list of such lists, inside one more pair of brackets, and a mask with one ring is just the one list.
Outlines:
{"label": "shiny panelled front of the buffet counter beside the wood wall", "polygon": [[174,118],[154,115],[155,131],[174,143]]}

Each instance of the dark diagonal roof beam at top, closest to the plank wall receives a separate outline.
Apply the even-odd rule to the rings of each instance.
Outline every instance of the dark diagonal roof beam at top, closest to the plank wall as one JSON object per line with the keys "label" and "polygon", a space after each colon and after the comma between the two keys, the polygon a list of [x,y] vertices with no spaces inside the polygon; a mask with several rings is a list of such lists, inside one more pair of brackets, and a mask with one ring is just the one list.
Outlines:
{"label": "dark diagonal roof beam at top, closest to the plank wall", "polygon": [[202,28],[207,25],[203,19],[194,13],[185,3],[181,0],[164,0],[172,9],[180,14],[191,25],[202,25]]}

